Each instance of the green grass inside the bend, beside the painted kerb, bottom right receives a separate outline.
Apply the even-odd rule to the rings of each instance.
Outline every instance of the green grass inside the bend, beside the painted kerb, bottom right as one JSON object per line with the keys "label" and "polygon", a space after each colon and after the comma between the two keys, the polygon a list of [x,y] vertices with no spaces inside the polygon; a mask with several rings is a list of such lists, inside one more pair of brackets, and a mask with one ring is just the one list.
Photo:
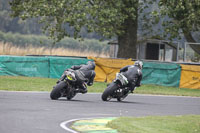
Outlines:
{"label": "green grass inside the bend, beside the painted kerb, bottom right", "polygon": [[200,115],[120,117],[106,126],[119,133],[200,133]]}

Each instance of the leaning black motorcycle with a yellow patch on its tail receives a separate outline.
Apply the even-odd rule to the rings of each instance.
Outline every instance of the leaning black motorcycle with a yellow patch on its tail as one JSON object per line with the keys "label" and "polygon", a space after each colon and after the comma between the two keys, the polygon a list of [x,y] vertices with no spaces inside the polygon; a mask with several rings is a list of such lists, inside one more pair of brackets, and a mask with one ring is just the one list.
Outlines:
{"label": "leaning black motorcycle with a yellow patch on its tail", "polygon": [[[50,98],[57,100],[60,97],[66,97],[71,100],[77,93],[80,93],[79,86],[76,84],[76,77],[73,71],[65,71],[65,78],[57,83],[51,91]],[[86,83],[84,83],[87,87]]]}

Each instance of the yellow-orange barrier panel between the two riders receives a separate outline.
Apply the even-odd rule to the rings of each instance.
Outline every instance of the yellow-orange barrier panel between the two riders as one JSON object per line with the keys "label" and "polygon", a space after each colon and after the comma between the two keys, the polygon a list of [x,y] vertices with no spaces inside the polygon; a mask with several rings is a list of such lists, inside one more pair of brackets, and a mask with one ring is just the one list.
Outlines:
{"label": "yellow-orange barrier panel between the two riders", "polygon": [[119,72],[119,70],[127,65],[133,65],[134,61],[131,59],[110,59],[110,58],[95,58],[88,57],[88,59],[92,59],[96,63],[96,77],[95,81],[99,82],[112,82],[115,78],[115,74]]}

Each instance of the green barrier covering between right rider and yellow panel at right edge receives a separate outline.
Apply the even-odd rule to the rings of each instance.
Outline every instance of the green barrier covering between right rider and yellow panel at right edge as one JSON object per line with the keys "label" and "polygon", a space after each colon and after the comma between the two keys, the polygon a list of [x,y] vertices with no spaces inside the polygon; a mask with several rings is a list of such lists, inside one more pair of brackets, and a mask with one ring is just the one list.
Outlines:
{"label": "green barrier covering between right rider and yellow panel at right edge", "polygon": [[174,63],[144,62],[143,84],[179,87],[181,66]]}

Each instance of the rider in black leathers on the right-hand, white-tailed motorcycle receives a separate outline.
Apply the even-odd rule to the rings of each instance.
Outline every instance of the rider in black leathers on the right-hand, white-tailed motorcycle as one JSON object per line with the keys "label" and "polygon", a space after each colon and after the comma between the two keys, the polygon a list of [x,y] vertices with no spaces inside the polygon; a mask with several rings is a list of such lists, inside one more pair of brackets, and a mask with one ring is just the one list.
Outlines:
{"label": "rider in black leathers on the right-hand, white-tailed motorcycle", "polygon": [[135,87],[141,86],[142,67],[142,61],[135,61],[134,65],[128,65],[120,69],[120,73],[122,73],[129,82],[128,87],[131,93],[133,93]]}

